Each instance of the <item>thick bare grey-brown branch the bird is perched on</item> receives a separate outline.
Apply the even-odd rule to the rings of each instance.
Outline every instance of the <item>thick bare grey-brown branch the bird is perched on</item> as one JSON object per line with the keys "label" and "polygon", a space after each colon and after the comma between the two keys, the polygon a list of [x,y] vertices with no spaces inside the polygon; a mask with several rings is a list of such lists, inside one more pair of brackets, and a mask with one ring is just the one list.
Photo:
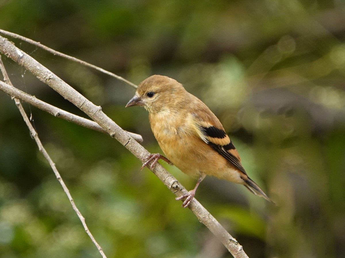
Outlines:
{"label": "thick bare grey-brown branch the bird is perched on", "polygon": [[[1,53],[10,57],[42,82],[49,85],[65,99],[76,105],[80,110],[85,112],[91,119],[96,121],[111,137],[117,139],[138,159],[143,159],[149,152],[138,142],[133,140],[128,133],[120,128],[106,114],[102,112],[101,107],[96,106],[91,101],[82,96],[79,92],[63,82],[58,76],[53,74],[45,66],[38,63],[28,54],[22,52],[7,39],[0,37]],[[168,172],[162,165],[156,163],[151,170],[175,195],[180,196],[187,193],[187,190]],[[206,225],[208,229],[215,234],[224,246],[230,251],[235,258],[248,257],[242,246],[233,238],[223,226],[194,198],[188,208],[197,216],[199,221]]]}

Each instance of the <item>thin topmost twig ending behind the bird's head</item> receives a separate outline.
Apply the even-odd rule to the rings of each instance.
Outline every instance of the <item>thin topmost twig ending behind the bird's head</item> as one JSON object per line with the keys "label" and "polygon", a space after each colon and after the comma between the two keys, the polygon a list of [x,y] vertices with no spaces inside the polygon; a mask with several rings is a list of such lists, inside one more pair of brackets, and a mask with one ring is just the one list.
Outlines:
{"label": "thin topmost twig ending behind the bird's head", "polygon": [[105,73],[105,74],[107,74],[107,75],[109,75],[109,76],[115,77],[116,79],[122,80],[122,82],[125,82],[125,83],[127,83],[128,85],[130,85],[130,86],[132,86],[132,87],[134,87],[134,88],[137,88],[137,87],[138,87],[138,86],[135,85],[134,83],[131,83],[129,80],[126,80],[125,78],[123,78],[123,77],[121,77],[121,76],[119,76],[119,75],[117,75],[117,74],[114,74],[114,73],[112,73],[112,72],[109,72],[109,71],[107,71],[107,70],[105,70],[105,69],[103,69],[103,68],[101,68],[101,67],[98,67],[98,66],[96,66],[96,65],[90,64],[90,63],[88,63],[88,62],[82,61],[82,60],[80,60],[80,59],[78,59],[78,58],[76,58],[76,57],[69,56],[69,55],[63,54],[63,53],[61,53],[61,52],[59,52],[59,51],[53,50],[53,49],[51,49],[50,47],[41,44],[40,42],[37,42],[37,41],[31,40],[31,39],[28,39],[27,37],[23,37],[23,36],[18,35],[18,34],[16,34],[16,33],[12,33],[12,32],[9,32],[9,31],[4,31],[4,30],[1,30],[1,29],[0,29],[0,33],[2,33],[2,34],[4,34],[4,35],[7,35],[7,36],[10,36],[10,37],[14,37],[15,39],[19,39],[19,40],[28,42],[28,43],[30,43],[30,44],[32,44],[32,45],[34,45],[34,46],[38,46],[38,47],[40,47],[41,49],[44,49],[44,50],[46,50],[46,51],[52,53],[53,55],[61,56],[61,57],[66,58],[66,59],[68,59],[68,60],[77,62],[77,63],[79,63],[79,64],[85,65],[85,66],[90,67],[90,68],[92,68],[92,69],[95,69],[95,70],[97,70],[97,71],[99,71],[99,72],[101,72],[101,73]]}

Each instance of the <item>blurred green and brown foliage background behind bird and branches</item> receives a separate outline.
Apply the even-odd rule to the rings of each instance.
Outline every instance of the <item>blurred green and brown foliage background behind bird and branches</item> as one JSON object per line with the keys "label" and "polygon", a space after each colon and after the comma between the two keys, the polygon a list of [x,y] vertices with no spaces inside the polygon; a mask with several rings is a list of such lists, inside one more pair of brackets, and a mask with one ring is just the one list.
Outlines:
{"label": "blurred green and brown foliage background behind bird and branches", "polygon": [[[277,204],[226,181],[201,183],[196,198],[248,256],[344,257],[344,1],[3,0],[0,28],[135,84],[175,78],[214,111],[249,176]],[[133,88],[9,39],[161,151],[147,112],[125,109]],[[2,58],[16,87],[85,116]],[[24,108],[108,257],[231,257],[116,140]],[[0,257],[100,257],[4,93],[0,110]]]}

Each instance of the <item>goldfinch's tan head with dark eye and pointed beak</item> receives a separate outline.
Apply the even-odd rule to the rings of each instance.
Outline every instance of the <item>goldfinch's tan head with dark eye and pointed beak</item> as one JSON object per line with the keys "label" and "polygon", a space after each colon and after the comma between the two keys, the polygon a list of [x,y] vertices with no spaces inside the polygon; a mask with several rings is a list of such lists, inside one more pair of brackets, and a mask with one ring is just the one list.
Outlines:
{"label": "goldfinch's tan head with dark eye and pointed beak", "polygon": [[152,75],[143,80],[126,107],[144,106],[149,112],[178,108],[186,90],[182,84],[167,76]]}

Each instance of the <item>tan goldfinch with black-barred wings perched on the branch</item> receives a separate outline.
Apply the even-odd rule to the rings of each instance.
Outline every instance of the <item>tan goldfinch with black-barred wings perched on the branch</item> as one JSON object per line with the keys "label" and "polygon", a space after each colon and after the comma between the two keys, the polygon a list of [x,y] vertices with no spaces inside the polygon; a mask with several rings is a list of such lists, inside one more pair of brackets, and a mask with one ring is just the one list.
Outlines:
{"label": "tan goldfinch with black-barred wings perched on the branch", "polygon": [[176,198],[186,198],[183,207],[193,200],[206,175],[243,184],[250,192],[271,201],[248,177],[218,118],[182,84],[167,76],[152,75],[139,84],[136,94],[126,105],[130,106],[143,106],[149,112],[152,132],[167,157],[159,153],[150,154],[141,169],[150,162],[152,168],[162,159],[198,178],[193,190]]}

